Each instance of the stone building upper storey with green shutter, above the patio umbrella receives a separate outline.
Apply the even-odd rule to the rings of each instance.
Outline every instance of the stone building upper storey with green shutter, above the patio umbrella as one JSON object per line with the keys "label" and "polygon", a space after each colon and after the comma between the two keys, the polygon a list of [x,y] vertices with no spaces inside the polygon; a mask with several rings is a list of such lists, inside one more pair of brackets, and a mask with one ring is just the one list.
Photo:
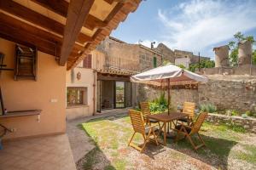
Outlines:
{"label": "stone building upper storey with green shutter, above the patio umbrella", "polygon": [[161,65],[163,56],[171,58],[142,44],[126,43],[114,37],[107,37],[96,50],[106,54],[107,66],[113,65],[113,60],[120,60],[121,64],[125,64],[125,67],[120,65],[120,68],[138,72]]}

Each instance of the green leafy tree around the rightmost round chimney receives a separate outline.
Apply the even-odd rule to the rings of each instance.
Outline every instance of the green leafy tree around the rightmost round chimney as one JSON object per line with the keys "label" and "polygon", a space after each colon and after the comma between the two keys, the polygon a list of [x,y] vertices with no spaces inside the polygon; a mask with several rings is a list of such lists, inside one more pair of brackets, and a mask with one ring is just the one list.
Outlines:
{"label": "green leafy tree around the rightmost round chimney", "polygon": [[[238,31],[234,35],[236,41],[230,41],[229,42],[229,47],[230,47],[230,64],[232,66],[236,66],[238,62],[238,43],[241,42],[242,40],[247,40],[249,42],[255,43],[254,37],[253,36],[247,36],[245,37],[241,31]],[[256,61],[254,61],[256,58],[255,50],[253,51],[253,64],[256,65]]]}

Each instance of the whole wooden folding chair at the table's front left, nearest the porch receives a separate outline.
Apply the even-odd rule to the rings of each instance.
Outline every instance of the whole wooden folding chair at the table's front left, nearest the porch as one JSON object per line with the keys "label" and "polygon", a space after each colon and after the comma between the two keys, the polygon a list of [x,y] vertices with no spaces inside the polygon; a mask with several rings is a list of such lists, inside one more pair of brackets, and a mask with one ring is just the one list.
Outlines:
{"label": "whole wooden folding chair at the table's front left, nearest the porch", "polygon": [[[131,124],[134,130],[134,133],[132,134],[132,137],[128,143],[128,146],[131,146],[142,153],[146,144],[150,140],[154,141],[155,144],[158,145],[157,136],[154,133],[157,130],[156,128],[157,125],[145,126],[144,120],[143,120],[143,113],[141,111],[130,110],[129,115],[131,117]],[[142,145],[142,147],[131,142],[136,133],[141,133],[143,135],[144,143],[140,144]],[[151,136],[153,136],[153,139],[150,138]]]}

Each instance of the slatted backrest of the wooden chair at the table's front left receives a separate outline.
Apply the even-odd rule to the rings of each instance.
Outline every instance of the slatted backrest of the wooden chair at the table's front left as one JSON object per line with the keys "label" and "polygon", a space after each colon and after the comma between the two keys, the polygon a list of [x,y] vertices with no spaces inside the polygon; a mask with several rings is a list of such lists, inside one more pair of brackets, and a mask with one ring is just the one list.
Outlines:
{"label": "slatted backrest of the wooden chair at the table's front left", "polygon": [[129,110],[133,130],[137,133],[145,133],[143,113],[141,111]]}

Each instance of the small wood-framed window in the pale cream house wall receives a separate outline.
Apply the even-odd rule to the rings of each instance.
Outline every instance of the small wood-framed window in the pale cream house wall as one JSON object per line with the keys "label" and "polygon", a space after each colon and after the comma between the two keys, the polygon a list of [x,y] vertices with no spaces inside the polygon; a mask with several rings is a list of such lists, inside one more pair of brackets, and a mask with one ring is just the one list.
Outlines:
{"label": "small wood-framed window in the pale cream house wall", "polygon": [[68,87],[67,106],[86,105],[86,88]]}

